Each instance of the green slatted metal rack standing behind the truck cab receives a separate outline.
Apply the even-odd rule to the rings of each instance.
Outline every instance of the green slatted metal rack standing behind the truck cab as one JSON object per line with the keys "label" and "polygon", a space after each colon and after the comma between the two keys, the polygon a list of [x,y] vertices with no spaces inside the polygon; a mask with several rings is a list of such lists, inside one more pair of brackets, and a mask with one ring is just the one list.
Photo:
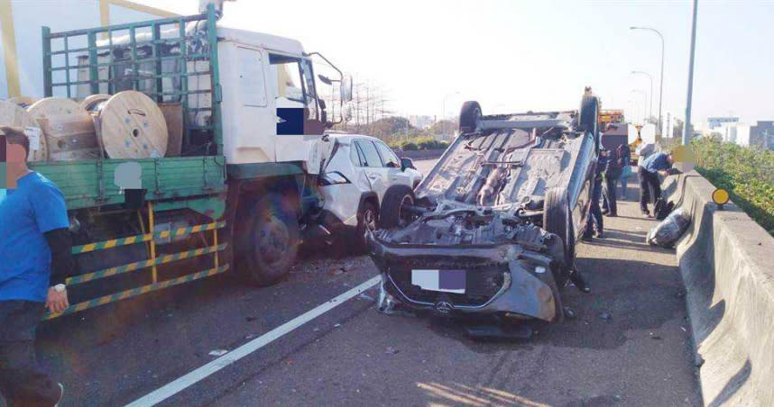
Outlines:
{"label": "green slatted metal rack standing behind the truck cab", "polygon": [[[217,146],[215,153],[222,155],[216,23],[215,8],[209,5],[206,14],[142,23],[69,32],[51,32],[49,27],[42,27],[45,95],[82,98],[84,93],[113,95],[132,89],[158,103],[180,102],[183,149],[191,148],[194,133],[204,132],[211,134]],[[205,25],[204,30],[200,30],[201,24]],[[202,65],[207,69],[200,69]],[[106,75],[100,76],[100,68],[105,68]],[[209,88],[189,89],[191,77],[208,78]],[[86,88],[88,91],[78,92]],[[191,105],[191,95],[209,95],[210,105]],[[208,123],[190,120],[191,113],[207,111],[211,117]]]}

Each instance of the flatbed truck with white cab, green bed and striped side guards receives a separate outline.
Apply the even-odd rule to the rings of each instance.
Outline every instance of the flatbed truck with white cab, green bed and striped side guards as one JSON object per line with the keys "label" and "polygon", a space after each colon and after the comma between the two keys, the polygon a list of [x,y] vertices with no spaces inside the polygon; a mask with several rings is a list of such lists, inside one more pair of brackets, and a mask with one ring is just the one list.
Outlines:
{"label": "flatbed truck with white cab, green bed and striped side guards", "polygon": [[[76,245],[74,301],[62,314],[231,268],[270,285],[318,233],[331,123],[311,54],[298,41],[220,26],[215,5],[202,12],[42,28],[46,96],[141,91],[180,106],[183,123],[177,157],[32,163],[65,195]],[[322,79],[351,100],[351,78]],[[130,162],[141,168],[139,189],[116,177]]]}

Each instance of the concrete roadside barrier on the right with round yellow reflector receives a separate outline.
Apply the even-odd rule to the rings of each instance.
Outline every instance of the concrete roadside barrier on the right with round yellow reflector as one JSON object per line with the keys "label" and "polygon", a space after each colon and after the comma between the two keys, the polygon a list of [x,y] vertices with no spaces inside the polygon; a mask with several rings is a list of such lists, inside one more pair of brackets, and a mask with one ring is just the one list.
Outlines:
{"label": "concrete roadside barrier on the right with round yellow reflector", "polygon": [[774,238],[696,171],[663,185],[691,215],[677,260],[705,405],[774,405]]}

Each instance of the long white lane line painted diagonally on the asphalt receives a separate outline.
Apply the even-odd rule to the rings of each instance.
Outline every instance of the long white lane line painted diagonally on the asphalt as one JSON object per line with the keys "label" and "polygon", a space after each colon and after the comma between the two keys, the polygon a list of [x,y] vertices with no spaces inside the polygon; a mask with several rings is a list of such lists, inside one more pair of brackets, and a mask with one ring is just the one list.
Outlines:
{"label": "long white lane line painted diagonally on the asphalt", "polygon": [[212,362],[207,363],[207,365],[198,367],[196,370],[193,370],[186,375],[180,376],[180,378],[169,384],[163,385],[162,387],[154,390],[152,393],[148,393],[143,397],[135,400],[134,402],[130,402],[127,404],[127,406],[144,407],[163,402],[171,396],[182,392],[192,384],[198,383],[207,376],[216,373],[218,370],[231,365],[243,357],[250,355],[254,351],[272,343],[272,341],[280,339],[286,333],[299,328],[301,325],[312,321],[318,316],[336,308],[336,306],[345,303],[346,300],[355,297],[357,294],[363,293],[365,290],[379,283],[379,281],[380,276],[375,276],[363,284],[347,291],[346,293],[340,294],[336,298],[328,300],[326,303],[321,303],[317,308],[309,310],[308,312],[304,312],[298,317],[281,324],[279,327],[274,328],[273,330],[266,332],[262,336],[245,343],[241,347],[235,348],[231,352],[226,353],[226,355],[218,357]]}

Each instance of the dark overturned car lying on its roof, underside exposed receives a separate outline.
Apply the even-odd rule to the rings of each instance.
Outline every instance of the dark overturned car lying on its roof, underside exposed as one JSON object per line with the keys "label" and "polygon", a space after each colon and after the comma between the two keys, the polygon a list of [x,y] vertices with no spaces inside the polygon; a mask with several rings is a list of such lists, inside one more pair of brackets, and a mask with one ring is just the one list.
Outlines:
{"label": "dark overturned car lying on its roof, underside exposed", "polygon": [[560,321],[599,149],[599,102],[570,112],[460,113],[460,135],[416,191],[389,189],[370,254],[377,306]]}

